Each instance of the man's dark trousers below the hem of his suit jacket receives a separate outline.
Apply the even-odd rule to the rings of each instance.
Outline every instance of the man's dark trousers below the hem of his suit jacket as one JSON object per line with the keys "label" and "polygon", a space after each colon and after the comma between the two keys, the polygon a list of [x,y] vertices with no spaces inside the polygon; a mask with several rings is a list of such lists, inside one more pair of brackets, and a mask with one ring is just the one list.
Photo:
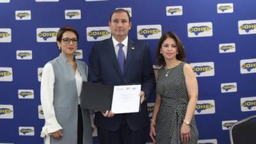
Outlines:
{"label": "man's dark trousers below the hem of his suit jacket", "polygon": [[97,127],[100,144],[145,144],[148,136],[147,127],[138,131],[129,128],[124,116],[118,131],[108,131]]}

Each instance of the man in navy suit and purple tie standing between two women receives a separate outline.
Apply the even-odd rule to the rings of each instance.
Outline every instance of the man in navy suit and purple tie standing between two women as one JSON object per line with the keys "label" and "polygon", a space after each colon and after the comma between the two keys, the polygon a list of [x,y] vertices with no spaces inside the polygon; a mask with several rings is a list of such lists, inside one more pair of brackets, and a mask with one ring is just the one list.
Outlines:
{"label": "man in navy suit and purple tie standing between two women", "polygon": [[93,44],[88,80],[108,85],[141,84],[138,113],[95,113],[100,144],[145,144],[148,131],[147,98],[154,89],[154,71],[148,45],[128,38],[129,13],[115,10],[109,19],[112,36]]}

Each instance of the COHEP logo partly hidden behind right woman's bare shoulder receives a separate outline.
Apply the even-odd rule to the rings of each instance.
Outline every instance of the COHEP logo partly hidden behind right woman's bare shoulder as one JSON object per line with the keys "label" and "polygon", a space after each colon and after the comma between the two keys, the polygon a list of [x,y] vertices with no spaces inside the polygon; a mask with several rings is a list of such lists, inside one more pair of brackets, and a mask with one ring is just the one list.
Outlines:
{"label": "COHEP logo partly hidden behind right woman's bare shoulder", "polygon": [[190,63],[196,77],[214,76],[214,62]]}

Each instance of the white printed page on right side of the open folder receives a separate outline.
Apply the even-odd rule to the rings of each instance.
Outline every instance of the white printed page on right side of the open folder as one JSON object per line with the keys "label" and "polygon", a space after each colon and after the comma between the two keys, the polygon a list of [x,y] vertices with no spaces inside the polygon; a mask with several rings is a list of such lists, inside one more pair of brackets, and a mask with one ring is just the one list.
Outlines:
{"label": "white printed page on right side of the open folder", "polygon": [[114,86],[111,111],[135,113],[140,111],[141,85]]}

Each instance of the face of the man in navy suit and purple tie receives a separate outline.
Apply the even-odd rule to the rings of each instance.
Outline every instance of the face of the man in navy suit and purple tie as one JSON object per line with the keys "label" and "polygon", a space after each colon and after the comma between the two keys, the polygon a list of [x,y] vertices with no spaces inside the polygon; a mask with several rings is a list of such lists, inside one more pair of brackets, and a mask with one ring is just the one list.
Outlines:
{"label": "face of the man in navy suit and purple tie", "polygon": [[132,23],[125,12],[113,13],[111,22],[108,23],[114,38],[125,38],[131,29]]}

